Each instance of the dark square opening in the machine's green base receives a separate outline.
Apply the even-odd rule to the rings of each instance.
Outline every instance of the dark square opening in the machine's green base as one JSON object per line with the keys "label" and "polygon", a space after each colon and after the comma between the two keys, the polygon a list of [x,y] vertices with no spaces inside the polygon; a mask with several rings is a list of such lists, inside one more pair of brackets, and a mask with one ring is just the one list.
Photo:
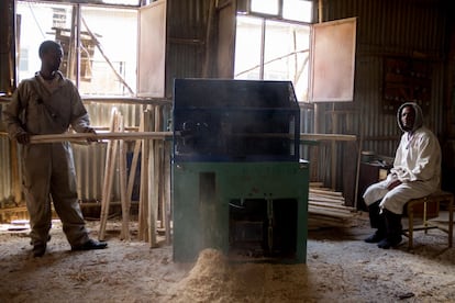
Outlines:
{"label": "dark square opening in the machine's green base", "polygon": [[293,199],[231,200],[230,256],[234,259],[296,258],[297,205]]}

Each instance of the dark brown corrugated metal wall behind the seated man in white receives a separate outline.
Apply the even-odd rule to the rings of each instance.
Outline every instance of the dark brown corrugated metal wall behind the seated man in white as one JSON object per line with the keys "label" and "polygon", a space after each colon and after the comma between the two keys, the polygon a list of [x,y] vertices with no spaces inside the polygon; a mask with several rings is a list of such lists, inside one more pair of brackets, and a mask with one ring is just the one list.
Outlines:
{"label": "dark brown corrugated metal wall behind the seated man in white", "polygon": [[[357,18],[354,102],[321,104],[324,112],[322,132],[355,134],[363,138],[363,150],[395,155],[401,132],[396,115],[382,110],[384,66],[388,57],[417,58],[430,64],[431,104],[424,113],[425,124],[437,135],[445,131],[447,3],[444,0],[322,0],[323,21]],[[330,114],[332,111],[336,120]],[[352,155],[345,157],[345,154],[337,153],[337,171],[353,162]],[[328,175],[321,173],[323,181],[331,184]],[[345,176],[340,173],[332,187],[348,191],[343,188],[343,178]]]}

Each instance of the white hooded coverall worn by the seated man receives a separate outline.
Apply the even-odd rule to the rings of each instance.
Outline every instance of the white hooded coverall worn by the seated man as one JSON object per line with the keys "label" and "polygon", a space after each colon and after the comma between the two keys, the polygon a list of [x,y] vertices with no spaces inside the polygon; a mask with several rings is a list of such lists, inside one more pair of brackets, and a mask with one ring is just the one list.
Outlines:
{"label": "white hooded coverall worn by the seated man", "polygon": [[[437,137],[423,126],[421,108],[411,102],[402,104],[397,113],[398,125],[403,131],[401,112],[410,104],[415,111],[413,130],[402,134],[387,179],[368,187],[363,197],[367,205],[381,200],[379,206],[396,214],[402,214],[410,199],[428,195],[440,188],[441,147]],[[388,184],[397,179],[401,184],[389,191]]]}

